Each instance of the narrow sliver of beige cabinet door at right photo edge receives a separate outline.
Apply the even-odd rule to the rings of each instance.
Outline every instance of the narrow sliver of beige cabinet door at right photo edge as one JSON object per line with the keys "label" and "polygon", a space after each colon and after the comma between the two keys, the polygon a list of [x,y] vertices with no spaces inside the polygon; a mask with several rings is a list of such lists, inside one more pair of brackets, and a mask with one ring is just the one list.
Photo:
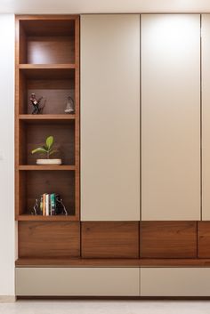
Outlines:
{"label": "narrow sliver of beige cabinet door at right photo edge", "polygon": [[210,220],[210,14],[202,15],[202,219]]}

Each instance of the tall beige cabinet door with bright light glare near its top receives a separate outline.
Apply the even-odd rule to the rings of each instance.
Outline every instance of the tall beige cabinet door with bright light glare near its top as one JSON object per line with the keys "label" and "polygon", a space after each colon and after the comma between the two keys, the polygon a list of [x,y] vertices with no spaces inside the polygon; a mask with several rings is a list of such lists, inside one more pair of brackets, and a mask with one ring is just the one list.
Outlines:
{"label": "tall beige cabinet door with bright light glare near its top", "polygon": [[200,16],[141,16],[141,218],[200,219]]}

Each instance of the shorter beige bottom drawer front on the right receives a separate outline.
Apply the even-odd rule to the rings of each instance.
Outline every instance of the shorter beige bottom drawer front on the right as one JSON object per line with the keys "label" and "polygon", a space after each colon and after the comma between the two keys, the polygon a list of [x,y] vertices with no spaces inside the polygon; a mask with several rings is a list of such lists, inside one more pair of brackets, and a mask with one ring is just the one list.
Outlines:
{"label": "shorter beige bottom drawer front on the right", "polygon": [[210,296],[210,268],[141,268],[141,296]]}

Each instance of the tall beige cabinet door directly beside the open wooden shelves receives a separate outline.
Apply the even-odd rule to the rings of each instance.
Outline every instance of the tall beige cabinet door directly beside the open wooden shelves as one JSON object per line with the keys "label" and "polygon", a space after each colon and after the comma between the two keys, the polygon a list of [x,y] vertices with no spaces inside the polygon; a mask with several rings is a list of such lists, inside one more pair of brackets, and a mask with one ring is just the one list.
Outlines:
{"label": "tall beige cabinet door directly beside the open wooden shelves", "polygon": [[140,219],[140,15],[81,16],[81,219]]}

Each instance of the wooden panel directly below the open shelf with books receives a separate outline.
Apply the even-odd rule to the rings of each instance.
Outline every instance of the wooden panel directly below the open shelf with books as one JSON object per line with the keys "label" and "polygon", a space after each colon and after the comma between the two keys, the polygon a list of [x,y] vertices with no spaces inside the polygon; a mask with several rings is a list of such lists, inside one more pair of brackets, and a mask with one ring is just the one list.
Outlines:
{"label": "wooden panel directly below the open shelf with books", "polygon": [[80,224],[76,221],[20,221],[19,257],[80,256]]}

